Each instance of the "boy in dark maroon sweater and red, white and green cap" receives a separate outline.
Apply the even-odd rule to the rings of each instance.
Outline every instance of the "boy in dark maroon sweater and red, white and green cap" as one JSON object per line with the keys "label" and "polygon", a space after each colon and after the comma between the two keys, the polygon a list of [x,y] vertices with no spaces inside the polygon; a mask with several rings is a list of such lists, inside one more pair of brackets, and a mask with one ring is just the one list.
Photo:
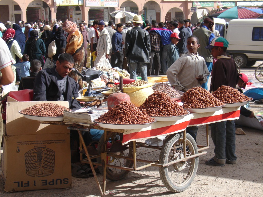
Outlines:
{"label": "boy in dark maroon sweater and red, white and green cap", "polygon": [[[218,60],[214,64],[210,92],[214,92],[221,85],[235,88],[239,81],[236,63],[230,55],[226,55],[229,42],[225,38],[216,37],[211,40],[206,49],[211,49],[211,54]],[[211,137],[215,144],[215,156],[207,160],[205,164],[224,166],[225,163],[235,164],[237,157],[235,122],[234,120],[216,122],[211,124]]]}

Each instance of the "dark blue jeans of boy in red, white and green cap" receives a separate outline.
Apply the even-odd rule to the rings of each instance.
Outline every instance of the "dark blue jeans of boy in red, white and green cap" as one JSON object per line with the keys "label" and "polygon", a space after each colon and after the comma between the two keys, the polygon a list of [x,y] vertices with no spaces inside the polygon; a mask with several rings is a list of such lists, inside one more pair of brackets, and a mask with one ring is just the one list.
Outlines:
{"label": "dark blue jeans of boy in red, white and green cap", "polygon": [[217,163],[225,164],[225,160],[236,160],[236,136],[234,120],[216,122],[211,124],[211,138],[215,144],[215,157]]}

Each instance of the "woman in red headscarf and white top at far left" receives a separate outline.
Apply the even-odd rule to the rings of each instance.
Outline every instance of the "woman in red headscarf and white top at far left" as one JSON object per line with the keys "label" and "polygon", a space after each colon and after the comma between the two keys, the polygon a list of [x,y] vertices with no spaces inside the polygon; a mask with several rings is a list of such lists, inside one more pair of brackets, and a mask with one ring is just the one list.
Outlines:
{"label": "woman in red headscarf and white top at far left", "polygon": [[[6,42],[11,56],[14,60],[16,60],[16,56],[18,56],[18,58],[22,58],[22,53],[21,53],[21,49],[20,46],[18,45],[17,41],[14,40],[14,36],[15,36],[16,31],[12,28],[9,28],[6,30],[6,32],[3,34],[3,40]],[[11,66],[14,75],[16,76],[16,67],[14,67],[13,65]],[[16,77],[13,81],[12,84],[16,83]]]}

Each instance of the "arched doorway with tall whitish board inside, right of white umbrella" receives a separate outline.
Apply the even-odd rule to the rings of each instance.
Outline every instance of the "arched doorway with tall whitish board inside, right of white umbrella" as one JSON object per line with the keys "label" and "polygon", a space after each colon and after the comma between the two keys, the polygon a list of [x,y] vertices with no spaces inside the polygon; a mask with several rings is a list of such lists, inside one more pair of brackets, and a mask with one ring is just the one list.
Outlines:
{"label": "arched doorway with tall whitish board inside, right of white umbrella", "polygon": [[152,20],[156,20],[157,23],[161,19],[161,8],[159,4],[155,1],[148,1],[145,3],[144,7],[144,19],[148,19],[151,23]]}

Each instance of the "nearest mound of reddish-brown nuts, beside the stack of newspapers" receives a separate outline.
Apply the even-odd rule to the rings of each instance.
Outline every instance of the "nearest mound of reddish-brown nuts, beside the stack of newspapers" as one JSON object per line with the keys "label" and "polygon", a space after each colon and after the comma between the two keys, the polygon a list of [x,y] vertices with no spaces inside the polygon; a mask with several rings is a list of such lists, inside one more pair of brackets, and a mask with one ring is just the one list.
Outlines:
{"label": "nearest mound of reddish-brown nuts, beside the stack of newspapers", "polygon": [[143,113],[130,101],[122,101],[107,113],[104,113],[98,119],[95,119],[95,121],[102,123],[129,125],[151,123],[154,122],[155,119]]}

